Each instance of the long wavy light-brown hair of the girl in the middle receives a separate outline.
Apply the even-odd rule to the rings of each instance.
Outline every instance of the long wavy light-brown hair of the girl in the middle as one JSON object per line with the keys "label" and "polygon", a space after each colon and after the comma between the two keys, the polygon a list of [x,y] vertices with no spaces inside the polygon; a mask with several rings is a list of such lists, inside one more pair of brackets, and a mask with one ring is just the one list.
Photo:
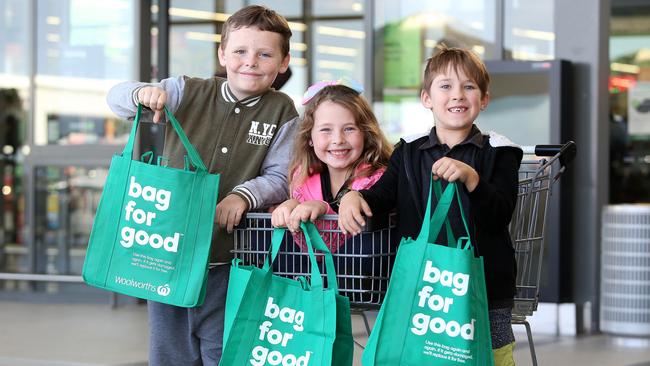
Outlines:
{"label": "long wavy light-brown hair of the girl in the middle", "polygon": [[393,152],[393,147],[382,133],[372,108],[359,93],[344,85],[326,86],[309,101],[305,107],[305,115],[298,127],[293,159],[289,165],[289,182],[292,191],[308,176],[320,173],[325,169],[325,164],[318,159],[313,147],[310,146],[314,113],[318,106],[325,101],[336,103],[349,110],[354,116],[357,127],[363,132],[363,152],[354,162],[352,171],[355,172],[362,163],[367,163],[368,168],[358,172],[356,177],[370,176],[377,169],[385,167]]}

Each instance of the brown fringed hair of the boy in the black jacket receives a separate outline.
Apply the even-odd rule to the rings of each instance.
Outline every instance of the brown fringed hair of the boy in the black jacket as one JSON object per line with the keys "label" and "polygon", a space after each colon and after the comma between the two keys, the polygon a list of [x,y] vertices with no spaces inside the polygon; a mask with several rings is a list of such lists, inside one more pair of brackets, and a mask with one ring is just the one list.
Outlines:
{"label": "brown fringed hair of the boy in the black jacket", "polygon": [[447,47],[445,44],[439,44],[436,48],[438,51],[427,60],[427,66],[424,69],[422,89],[425,92],[429,93],[431,83],[438,74],[453,68],[456,73],[462,70],[467,77],[472,79],[481,90],[481,96],[487,94],[490,75],[483,61],[474,52],[465,48]]}

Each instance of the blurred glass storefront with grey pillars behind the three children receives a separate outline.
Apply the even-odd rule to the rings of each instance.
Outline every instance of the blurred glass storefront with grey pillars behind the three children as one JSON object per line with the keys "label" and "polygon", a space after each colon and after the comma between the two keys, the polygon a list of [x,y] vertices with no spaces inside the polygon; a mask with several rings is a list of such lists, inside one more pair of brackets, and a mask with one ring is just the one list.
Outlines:
{"label": "blurred glass storefront with grey pillars behind the three children", "polygon": [[392,141],[426,132],[422,68],[445,42],[493,75],[482,129],[522,145],[575,140],[542,293],[576,304],[578,328],[597,327],[600,208],[650,200],[650,1],[0,0],[0,299],[107,301],[78,282],[130,126],[105,94],[122,80],[223,72],[223,22],[253,3],[290,22],[282,90],[297,102],[311,83],[348,76]]}

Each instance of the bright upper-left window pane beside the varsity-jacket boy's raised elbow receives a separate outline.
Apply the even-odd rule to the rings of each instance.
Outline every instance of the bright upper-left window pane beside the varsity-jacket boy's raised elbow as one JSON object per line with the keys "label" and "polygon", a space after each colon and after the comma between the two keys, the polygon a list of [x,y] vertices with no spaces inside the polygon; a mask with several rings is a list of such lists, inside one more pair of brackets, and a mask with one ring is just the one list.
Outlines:
{"label": "bright upper-left window pane beside the varsity-jacket boy's raised elbow", "polygon": [[120,144],[108,89],[134,79],[134,2],[42,0],[36,8],[36,145]]}

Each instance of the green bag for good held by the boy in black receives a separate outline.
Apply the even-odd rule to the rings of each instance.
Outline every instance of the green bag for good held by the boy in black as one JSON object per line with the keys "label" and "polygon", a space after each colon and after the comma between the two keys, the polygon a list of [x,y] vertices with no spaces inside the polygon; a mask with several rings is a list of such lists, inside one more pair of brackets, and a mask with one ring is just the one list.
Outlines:
{"label": "green bag for good held by the boy in black", "polygon": [[431,221],[429,198],[417,239],[402,238],[363,366],[494,365],[483,259],[469,235],[455,241],[449,227],[447,245],[433,244],[454,195],[469,233],[458,187],[449,183]]}

